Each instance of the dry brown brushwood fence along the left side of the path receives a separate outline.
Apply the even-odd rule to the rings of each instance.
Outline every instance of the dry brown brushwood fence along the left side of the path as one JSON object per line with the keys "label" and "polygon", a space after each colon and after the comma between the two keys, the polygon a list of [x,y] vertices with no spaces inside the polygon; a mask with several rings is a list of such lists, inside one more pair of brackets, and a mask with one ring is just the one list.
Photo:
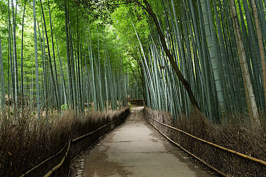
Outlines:
{"label": "dry brown brushwood fence along the left side of the path", "polygon": [[[37,118],[29,110],[22,113],[5,112],[0,118],[0,176],[20,176],[33,166],[60,151],[71,140],[88,134],[99,127],[117,120],[128,112],[129,108],[106,113],[77,115],[73,111],[51,113],[50,118]],[[111,123],[88,137],[72,142],[63,165],[55,176],[68,173],[71,159],[97,141],[112,128],[119,125],[124,118]],[[27,176],[43,176],[63,158],[66,148],[56,157],[47,161]]]}

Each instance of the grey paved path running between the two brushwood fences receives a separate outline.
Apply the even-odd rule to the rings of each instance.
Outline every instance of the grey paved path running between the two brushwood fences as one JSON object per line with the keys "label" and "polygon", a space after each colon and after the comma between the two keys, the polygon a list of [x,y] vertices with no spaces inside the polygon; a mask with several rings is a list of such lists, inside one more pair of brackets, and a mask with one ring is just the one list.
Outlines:
{"label": "grey paved path running between the two brushwood fences", "polygon": [[82,176],[210,176],[161,138],[136,107],[85,160]]}

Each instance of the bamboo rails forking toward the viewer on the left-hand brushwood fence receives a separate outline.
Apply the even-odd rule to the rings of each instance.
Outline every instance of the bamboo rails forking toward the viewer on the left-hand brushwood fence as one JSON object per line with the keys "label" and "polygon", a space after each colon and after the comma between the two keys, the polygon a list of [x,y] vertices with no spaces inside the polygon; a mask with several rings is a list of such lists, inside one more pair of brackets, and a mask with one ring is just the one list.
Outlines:
{"label": "bamboo rails forking toward the viewer on the left-hand brushwood fence", "polygon": [[[87,137],[87,136],[89,136],[89,135],[95,133],[96,131],[100,130],[101,128],[104,128],[105,126],[108,126],[109,124],[114,123],[114,122],[116,122],[116,121],[122,119],[122,118],[123,118],[126,114],[128,114],[129,112],[130,112],[130,109],[129,109],[129,110],[128,110],[128,111],[127,111],[122,117],[118,118],[117,120],[111,121],[111,122],[109,122],[108,124],[103,125],[103,126],[99,127],[98,129],[96,129],[96,130],[94,130],[94,131],[92,131],[92,132],[89,132],[88,134],[85,134],[85,135],[80,136],[80,137],[78,137],[78,138],[75,138],[75,139],[73,139],[73,140],[68,139],[68,141],[67,141],[66,144],[63,146],[63,148],[62,148],[60,151],[58,151],[55,155],[53,155],[53,156],[47,158],[47,159],[44,160],[43,162],[41,162],[41,163],[37,164],[36,166],[32,167],[31,169],[29,169],[28,171],[26,171],[25,173],[23,173],[23,174],[20,175],[19,177],[24,177],[25,175],[27,175],[28,173],[30,173],[31,171],[33,171],[34,169],[36,169],[36,168],[39,167],[40,165],[44,164],[44,163],[47,162],[48,160],[50,160],[50,159],[52,159],[53,157],[55,157],[55,156],[57,156],[58,154],[60,154],[60,153],[63,151],[63,149],[65,149],[66,145],[68,144],[68,146],[67,146],[67,150],[66,150],[66,152],[65,152],[65,155],[64,155],[64,157],[62,158],[62,160],[60,161],[60,163],[58,163],[56,166],[54,166],[49,172],[47,172],[47,173],[44,175],[44,177],[48,177],[48,176],[50,176],[50,175],[53,174],[53,173],[54,173],[54,172],[55,172],[60,166],[62,166],[62,164],[63,164],[65,158],[66,158],[67,155],[68,155],[68,152],[69,152],[69,149],[70,149],[70,144],[71,144],[71,142],[78,141],[78,140],[80,140],[80,139],[82,139],[82,138],[84,138],[84,137]],[[98,140],[100,140],[100,139],[101,139],[102,137],[104,137],[105,135],[106,135],[106,134],[104,134],[103,136],[101,136]],[[98,140],[97,140],[97,141],[98,141]]]}

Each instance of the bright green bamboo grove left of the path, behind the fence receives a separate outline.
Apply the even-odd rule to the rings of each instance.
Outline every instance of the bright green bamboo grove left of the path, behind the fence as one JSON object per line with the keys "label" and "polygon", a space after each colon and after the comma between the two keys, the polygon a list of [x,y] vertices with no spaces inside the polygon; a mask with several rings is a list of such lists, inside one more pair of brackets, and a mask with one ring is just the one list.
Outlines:
{"label": "bright green bamboo grove left of the path, behind the fence", "polygon": [[112,43],[115,34],[100,22],[87,23],[73,6],[72,1],[2,2],[2,110],[69,107],[84,113],[127,104],[129,70],[123,54],[110,49],[119,46]]}

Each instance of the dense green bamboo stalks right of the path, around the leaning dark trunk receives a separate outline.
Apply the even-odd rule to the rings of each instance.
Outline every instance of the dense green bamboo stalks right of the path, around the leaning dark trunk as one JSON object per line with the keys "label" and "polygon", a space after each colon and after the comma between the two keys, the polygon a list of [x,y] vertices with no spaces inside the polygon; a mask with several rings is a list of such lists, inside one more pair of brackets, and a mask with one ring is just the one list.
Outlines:
{"label": "dense green bamboo stalks right of the path, around the leaning dark trunk", "polygon": [[[265,6],[262,0],[162,0],[151,5],[168,50],[212,121],[243,112],[259,125],[266,96]],[[149,19],[150,33],[146,41],[139,39],[138,49],[147,104],[174,117],[188,115],[192,102],[162,45],[158,25]]]}

